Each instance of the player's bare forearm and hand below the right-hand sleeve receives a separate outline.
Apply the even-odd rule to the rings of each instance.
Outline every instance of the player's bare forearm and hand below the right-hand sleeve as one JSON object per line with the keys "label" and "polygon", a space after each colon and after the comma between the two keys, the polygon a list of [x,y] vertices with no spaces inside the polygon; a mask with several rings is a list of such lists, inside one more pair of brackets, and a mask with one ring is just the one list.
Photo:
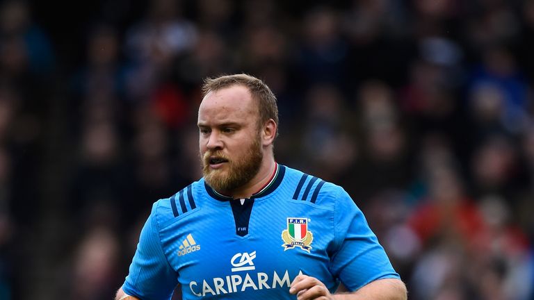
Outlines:
{"label": "player's bare forearm and hand below the right-hand sleeve", "polygon": [[407,290],[404,283],[396,278],[373,281],[355,292],[330,294],[326,286],[317,278],[299,275],[291,283],[291,294],[298,300],[406,300]]}

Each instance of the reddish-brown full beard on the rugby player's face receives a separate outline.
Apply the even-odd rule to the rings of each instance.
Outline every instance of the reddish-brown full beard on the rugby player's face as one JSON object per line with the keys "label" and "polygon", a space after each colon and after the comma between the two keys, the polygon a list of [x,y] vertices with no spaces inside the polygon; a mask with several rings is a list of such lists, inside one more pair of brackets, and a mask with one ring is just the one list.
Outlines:
{"label": "reddish-brown full beard on the rugby player's face", "polygon": [[[223,169],[211,169],[209,166],[210,156],[217,156],[227,160],[227,166]],[[254,140],[244,156],[231,160],[221,151],[206,151],[202,156],[202,174],[204,180],[211,188],[218,192],[231,192],[236,190],[256,176],[261,167],[264,153],[261,151],[259,138]]]}

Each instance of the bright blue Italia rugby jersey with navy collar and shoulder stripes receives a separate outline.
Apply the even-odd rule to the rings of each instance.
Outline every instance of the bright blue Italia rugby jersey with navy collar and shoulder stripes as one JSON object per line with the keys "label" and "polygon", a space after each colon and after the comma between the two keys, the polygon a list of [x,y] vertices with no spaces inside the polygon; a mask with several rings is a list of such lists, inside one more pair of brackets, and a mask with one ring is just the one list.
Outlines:
{"label": "bright blue Italia rugby jersey with navy collar and shoulder stripes", "polygon": [[124,292],[143,300],[295,299],[298,274],[330,292],[399,278],[362,212],[338,185],[277,165],[250,199],[192,183],[154,203]]}

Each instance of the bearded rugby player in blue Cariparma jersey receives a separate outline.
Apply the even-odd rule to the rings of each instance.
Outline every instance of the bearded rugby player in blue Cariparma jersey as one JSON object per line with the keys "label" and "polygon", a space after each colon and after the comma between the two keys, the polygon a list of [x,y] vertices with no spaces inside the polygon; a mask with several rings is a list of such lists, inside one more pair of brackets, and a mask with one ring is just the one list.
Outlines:
{"label": "bearded rugby player in blue Cariparma jersey", "polygon": [[245,74],[203,91],[204,177],[154,203],[116,299],[406,299],[348,194],[275,162],[273,92]]}

